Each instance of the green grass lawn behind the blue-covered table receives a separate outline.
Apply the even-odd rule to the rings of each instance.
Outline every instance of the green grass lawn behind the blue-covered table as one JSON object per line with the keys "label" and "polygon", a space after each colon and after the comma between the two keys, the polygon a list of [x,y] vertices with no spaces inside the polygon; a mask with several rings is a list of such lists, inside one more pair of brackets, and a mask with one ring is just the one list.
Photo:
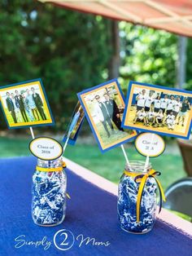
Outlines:
{"label": "green grass lawn behind the blue-covered table", "polygon": [[[1,138],[0,157],[30,155],[28,149],[30,140],[30,138]],[[176,147],[176,144],[172,147]],[[145,160],[145,157],[137,153],[131,144],[126,145],[126,152],[129,152],[129,159]],[[118,183],[120,175],[124,170],[124,156],[120,148],[114,148],[102,154],[98,149],[98,145],[81,144],[77,141],[75,146],[68,145],[65,157],[68,157],[81,166],[85,166],[89,170],[93,170],[95,173],[102,175],[114,183]],[[180,154],[174,152],[174,150],[170,150],[170,147],[169,150],[165,150],[163,155],[151,159],[151,163],[155,170],[161,171],[162,175],[159,177],[159,180],[164,189],[168,188],[177,179],[186,176]]]}

